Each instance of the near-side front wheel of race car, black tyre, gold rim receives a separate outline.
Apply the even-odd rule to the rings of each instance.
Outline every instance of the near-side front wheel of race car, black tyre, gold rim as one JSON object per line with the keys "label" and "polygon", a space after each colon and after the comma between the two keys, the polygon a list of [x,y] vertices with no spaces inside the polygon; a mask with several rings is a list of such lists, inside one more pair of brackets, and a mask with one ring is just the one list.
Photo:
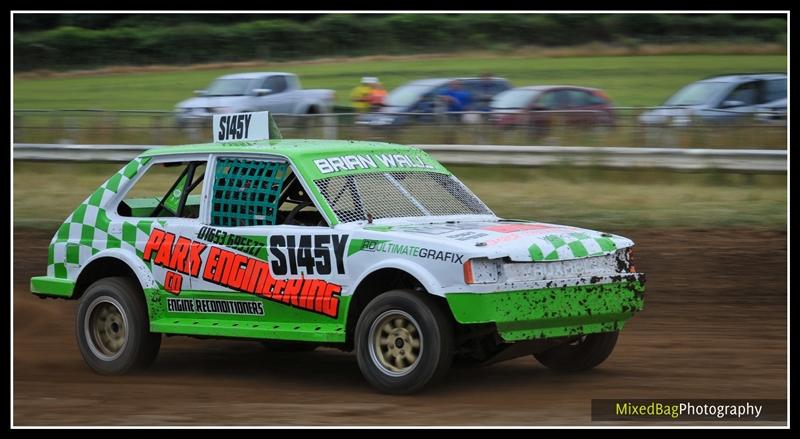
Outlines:
{"label": "near-side front wheel of race car, black tyre, gold rim", "polygon": [[392,290],[372,300],[359,316],[355,350],[361,373],[373,387],[414,393],[447,374],[453,328],[431,296]]}

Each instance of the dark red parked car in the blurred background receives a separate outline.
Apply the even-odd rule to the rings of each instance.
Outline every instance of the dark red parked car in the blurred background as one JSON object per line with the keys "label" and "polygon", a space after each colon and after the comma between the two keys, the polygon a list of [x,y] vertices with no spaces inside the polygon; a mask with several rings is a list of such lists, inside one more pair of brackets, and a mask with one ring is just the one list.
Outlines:
{"label": "dark red parked car in the blurred background", "polygon": [[546,128],[555,124],[610,125],[614,111],[608,95],[596,88],[537,85],[504,91],[492,100],[492,122]]}

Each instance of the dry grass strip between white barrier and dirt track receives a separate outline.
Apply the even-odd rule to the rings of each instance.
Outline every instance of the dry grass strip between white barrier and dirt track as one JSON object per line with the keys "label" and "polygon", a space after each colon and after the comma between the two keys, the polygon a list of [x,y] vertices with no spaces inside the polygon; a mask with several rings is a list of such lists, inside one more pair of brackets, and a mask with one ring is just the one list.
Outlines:
{"label": "dry grass strip between white barrier and dirt track", "polygon": [[[55,231],[121,164],[14,162],[14,225]],[[785,175],[451,166],[496,214],[601,230],[785,230]],[[165,187],[171,182],[164,182]]]}

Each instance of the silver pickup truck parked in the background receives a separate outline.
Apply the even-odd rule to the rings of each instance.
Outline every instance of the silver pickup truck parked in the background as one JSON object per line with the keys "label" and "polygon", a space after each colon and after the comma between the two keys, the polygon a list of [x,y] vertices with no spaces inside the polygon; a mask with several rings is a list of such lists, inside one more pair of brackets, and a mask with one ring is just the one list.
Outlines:
{"label": "silver pickup truck parked in the background", "polygon": [[336,92],[303,90],[297,75],[283,72],[238,73],[214,80],[199,96],[178,103],[178,120],[205,120],[216,113],[270,111],[277,114],[330,113]]}

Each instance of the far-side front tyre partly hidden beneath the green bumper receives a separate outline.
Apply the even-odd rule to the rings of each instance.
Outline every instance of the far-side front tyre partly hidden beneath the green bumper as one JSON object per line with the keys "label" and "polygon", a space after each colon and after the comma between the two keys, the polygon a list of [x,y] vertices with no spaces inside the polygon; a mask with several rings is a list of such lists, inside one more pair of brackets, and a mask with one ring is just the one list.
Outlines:
{"label": "far-side front tyre partly hidden beneath the green bumper", "polygon": [[608,358],[617,344],[619,332],[603,332],[580,337],[574,342],[533,354],[540,363],[559,372],[591,369]]}

